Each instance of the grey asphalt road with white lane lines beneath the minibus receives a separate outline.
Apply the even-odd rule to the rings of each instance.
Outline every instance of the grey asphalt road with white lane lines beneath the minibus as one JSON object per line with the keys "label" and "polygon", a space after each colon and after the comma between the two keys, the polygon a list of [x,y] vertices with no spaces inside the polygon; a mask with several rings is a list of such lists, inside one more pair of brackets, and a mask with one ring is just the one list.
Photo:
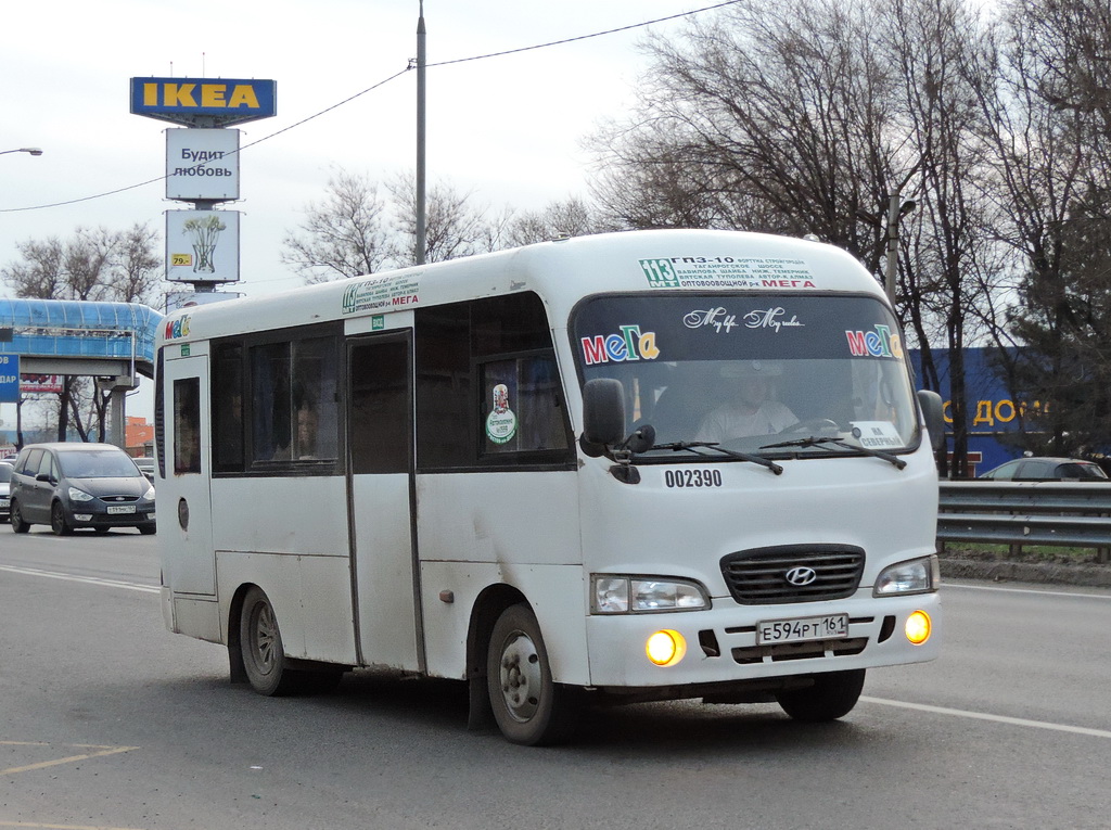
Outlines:
{"label": "grey asphalt road with white lane lines beneath the minibus", "polygon": [[0,527],[0,829],[1111,824],[1108,590],[947,583],[943,657],[838,723],[647,704],[529,749],[468,732],[458,683],[231,687],[162,627],[158,537],[43,531]]}

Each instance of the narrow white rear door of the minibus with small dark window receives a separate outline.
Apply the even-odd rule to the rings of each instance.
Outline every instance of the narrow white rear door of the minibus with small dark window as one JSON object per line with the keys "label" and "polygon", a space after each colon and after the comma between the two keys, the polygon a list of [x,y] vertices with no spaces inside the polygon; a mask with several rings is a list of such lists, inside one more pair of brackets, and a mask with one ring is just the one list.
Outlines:
{"label": "narrow white rear door of the minibus with small dark window", "polygon": [[[209,496],[208,356],[171,358],[160,380],[164,396],[164,472],[156,477],[158,532],[173,541],[163,560],[166,583],[174,594],[216,594],[212,503]],[[196,349],[194,349],[196,351]]]}

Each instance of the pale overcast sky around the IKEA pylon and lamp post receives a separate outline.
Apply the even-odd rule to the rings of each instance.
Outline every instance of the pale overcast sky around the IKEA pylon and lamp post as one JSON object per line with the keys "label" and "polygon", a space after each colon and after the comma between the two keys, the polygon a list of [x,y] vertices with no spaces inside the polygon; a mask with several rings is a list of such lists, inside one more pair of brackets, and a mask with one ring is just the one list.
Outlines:
{"label": "pale overcast sky around the IKEA pylon and lamp post", "polygon": [[[582,140],[628,110],[645,61],[640,28],[519,54],[436,67],[714,4],[714,0],[426,0],[428,177],[494,210],[588,194]],[[6,3],[0,49],[0,264],[16,243],[78,226],[123,229],[189,207],[164,183],[171,124],[129,111],[132,77],[277,82],[278,114],[241,124],[243,146],[378,84],[416,57],[418,0],[38,0]],[[705,12],[713,14],[715,12]],[[685,20],[651,27],[678,32]],[[414,169],[417,73],[407,72],[246,149],[239,290],[301,284],[279,261],[283,233],[342,168],[376,179]],[[13,210],[14,209],[14,210]],[[229,287],[230,288],[230,287]],[[10,292],[0,287],[0,292]]]}

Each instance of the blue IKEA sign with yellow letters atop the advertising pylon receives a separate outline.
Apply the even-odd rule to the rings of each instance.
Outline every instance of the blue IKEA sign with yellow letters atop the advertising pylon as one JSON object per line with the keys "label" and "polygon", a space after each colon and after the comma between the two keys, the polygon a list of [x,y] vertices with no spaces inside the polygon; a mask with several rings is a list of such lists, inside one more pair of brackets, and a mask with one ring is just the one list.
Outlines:
{"label": "blue IKEA sign with yellow letters atop the advertising pylon", "polygon": [[188,126],[221,126],[270,118],[277,82],[227,78],[132,78],[131,112]]}

